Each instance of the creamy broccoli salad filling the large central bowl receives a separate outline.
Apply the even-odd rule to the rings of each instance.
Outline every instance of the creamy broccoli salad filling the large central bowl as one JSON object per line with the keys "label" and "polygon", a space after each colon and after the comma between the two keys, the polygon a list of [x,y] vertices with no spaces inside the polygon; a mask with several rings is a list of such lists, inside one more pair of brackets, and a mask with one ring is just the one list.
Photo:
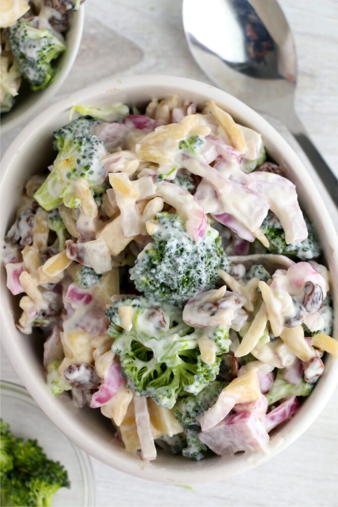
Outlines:
{"label": "creamy broccoli salad filling the large central bowl", "polygon": [[295,186],[212,101],[75,105],[70,120],[3,249],[48,387],[144,460],[266,452],[338,356]]}

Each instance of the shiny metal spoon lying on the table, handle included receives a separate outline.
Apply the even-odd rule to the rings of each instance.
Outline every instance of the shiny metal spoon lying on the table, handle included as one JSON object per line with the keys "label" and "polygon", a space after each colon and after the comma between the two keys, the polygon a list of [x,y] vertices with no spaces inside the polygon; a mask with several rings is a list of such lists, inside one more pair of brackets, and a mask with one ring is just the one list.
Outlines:
{"label": "shiny metal spoon lying on the table, handle included", "polygon": [[333,201],[338,181],[294,110],[297,62],[291,31],[276,0],[183,0],[190,50],[220,88],[273,114],[293,133]]}

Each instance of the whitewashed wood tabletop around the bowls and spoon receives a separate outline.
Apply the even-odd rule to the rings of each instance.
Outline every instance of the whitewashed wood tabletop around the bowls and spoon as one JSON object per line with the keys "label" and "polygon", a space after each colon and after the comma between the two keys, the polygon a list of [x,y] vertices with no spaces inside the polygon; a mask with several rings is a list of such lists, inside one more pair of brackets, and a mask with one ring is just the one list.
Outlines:
{"label": "whitewashed wood tabletop around the bowls and spoon", "polygon": [[[338,3],[280,0],[280,4],[299,60],[296,110],[337,170]],[[108,76],[168,74],[208,82],[185,44],[180,0],[86,0],[85,18],[78,59],[55,100]],[[3,136],[3,149],[21,128]],[[1,376],[19,382],[3,350]],[[268,463],[244,476],[192,490],[134,479],[92,459],[96,505],[338,505],[337,405],[336,392],[303,437]]]}

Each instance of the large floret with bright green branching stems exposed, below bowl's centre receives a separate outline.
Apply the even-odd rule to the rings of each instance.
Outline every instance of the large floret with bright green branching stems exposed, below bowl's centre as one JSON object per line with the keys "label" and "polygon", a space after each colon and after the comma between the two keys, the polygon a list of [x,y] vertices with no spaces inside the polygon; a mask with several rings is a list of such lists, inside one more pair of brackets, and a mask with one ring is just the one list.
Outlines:
{"label": "large floret with bright green branching stems exposed, below bowl's centre", "polygon": [[[126,305],[134,309],[130,331],[122,328],[119,316],[119,307]],[[212,365],[202,361],[198,335],[182,322],[177,308],[141,297],[114,303],[107,315],[108,334],[115,338],[112,351],[120,356],[128,386],[141,395],[172,408],[179,395],[197,394],[215,380],[219,358]]]}

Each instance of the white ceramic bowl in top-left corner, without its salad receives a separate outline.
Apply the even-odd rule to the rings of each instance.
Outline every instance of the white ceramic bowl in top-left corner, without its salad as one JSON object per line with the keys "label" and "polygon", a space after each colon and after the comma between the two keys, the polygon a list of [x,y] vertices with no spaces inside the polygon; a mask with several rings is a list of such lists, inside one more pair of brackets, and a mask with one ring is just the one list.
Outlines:
{"label": "white ceramic bowl in top-left corner, without its salad", "polygon": [[83,32],[84,16],[84,6],[81,6],[72,15],[69,30],[65,34],[67,49],[57,60],[57,70],[53,82],[45,90],[41,91],[33,92],[27,89],[21,93],[19,90],[19,95],[16,97],[16,102],[11,111],[1,115],[2,134],[6,134],[13,128],[26,123],[30,118],[39,113],[46,106],[46,103],[55,96],[68,76],[78,54]]}

